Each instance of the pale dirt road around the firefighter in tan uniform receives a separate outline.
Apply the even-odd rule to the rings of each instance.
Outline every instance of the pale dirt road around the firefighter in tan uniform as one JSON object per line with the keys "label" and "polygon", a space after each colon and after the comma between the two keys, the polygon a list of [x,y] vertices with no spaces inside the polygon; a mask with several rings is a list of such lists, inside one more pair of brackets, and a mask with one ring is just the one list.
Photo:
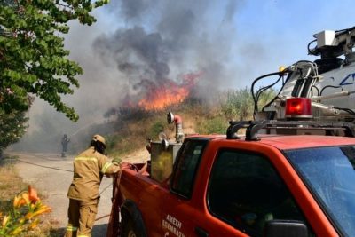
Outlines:
{"label": "pale dirt road around the firefighter in tan uniform", "polygon": [[[59,223],[60,228],[67,226],[67,188],[73,178],[74,155],[61,158],[59,154],[28,154],[15,153],[19,161],[16,168],[25,182],[36,187],[43,195],[43,202],[52,208],[51,219]],[[146,150],[122,157],[124,162],[145,162],[149,158]],[[111,212],[112,178],[103,178],[100,186],[100,202],[97,218],[106,216]],[[95,222],[92,231],[93,237],[106,236],[106,227],[109,217]]]}

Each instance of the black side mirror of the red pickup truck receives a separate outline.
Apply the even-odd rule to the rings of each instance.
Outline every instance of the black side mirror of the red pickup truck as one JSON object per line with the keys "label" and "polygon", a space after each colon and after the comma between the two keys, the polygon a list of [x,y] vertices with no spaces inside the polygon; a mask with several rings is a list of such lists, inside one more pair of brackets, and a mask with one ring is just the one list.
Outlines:
{"label": "black side mirror of the red pickup truck", "polygon": [[266,222],[264,237],[308,237],[308,228],[301,221],[271,220]]}

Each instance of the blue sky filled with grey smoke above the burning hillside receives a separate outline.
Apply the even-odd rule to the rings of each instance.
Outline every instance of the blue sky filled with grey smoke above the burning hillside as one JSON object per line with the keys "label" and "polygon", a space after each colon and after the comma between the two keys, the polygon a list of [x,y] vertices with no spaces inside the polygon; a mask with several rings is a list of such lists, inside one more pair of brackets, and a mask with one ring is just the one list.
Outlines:
{"label": "blue sky filled with grey smoke above the burning hillside", "polygon": [[[80,88],[63,98],[75,107],[77,123],[41,99],[28,112],[28,134],[76,136],[104,122],[110,107],[138,100],[147,84],[181,83],[201,74],[197,96],[250,87],[253,80],[307,55],[312,35],[351,28],[350,0],[111,0],[96,9],[97,22],[70,23],[65,45],[83,67]],[[51,140],[47,138],[47,140]]]}

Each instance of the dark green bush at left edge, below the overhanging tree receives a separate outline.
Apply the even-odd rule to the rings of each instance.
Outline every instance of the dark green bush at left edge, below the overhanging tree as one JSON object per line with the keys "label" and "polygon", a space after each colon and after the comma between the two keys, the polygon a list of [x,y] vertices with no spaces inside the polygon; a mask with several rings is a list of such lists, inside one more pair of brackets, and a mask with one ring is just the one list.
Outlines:
{"label": "dark green bush at left edge, below the overhanging tree", "polygon": [[28,117],[24,112],[13,110],[11,113],[5,113],[0,108],[0,157],[2,151],[19,139],[26,132]]}

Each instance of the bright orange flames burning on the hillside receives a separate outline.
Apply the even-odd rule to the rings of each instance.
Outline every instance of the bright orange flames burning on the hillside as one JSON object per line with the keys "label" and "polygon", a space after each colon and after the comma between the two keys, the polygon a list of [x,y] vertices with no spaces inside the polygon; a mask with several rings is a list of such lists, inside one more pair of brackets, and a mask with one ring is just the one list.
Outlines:
{"label": "bright orange flames burning on the hillside", "polygon": [[183,75],[180,84],[171,80],[164,80],[161,84],[146,83],[146,96],[138,102],[138,106],[146,110],[160,110],[180,104],[190,95],[200,75],[201,73]]}

